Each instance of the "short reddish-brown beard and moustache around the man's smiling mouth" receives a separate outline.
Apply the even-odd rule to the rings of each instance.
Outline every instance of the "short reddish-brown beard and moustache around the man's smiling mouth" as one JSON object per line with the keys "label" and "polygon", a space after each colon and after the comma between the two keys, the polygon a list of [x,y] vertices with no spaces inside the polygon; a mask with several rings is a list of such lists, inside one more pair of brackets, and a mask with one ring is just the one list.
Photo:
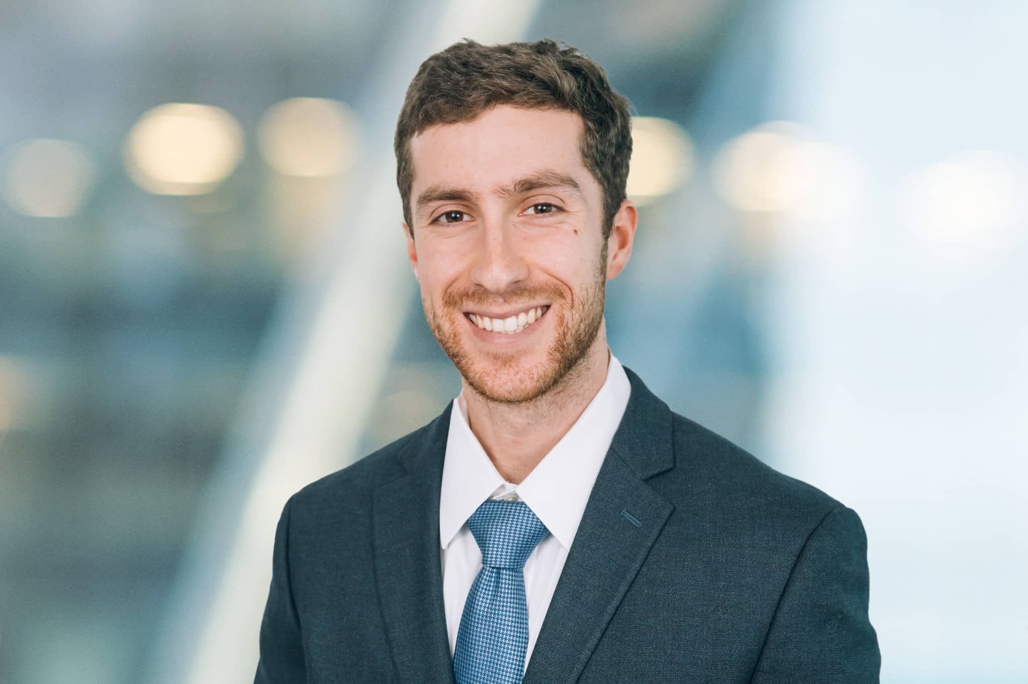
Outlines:
{"label": "short reddish-brown beard and moustache around the man's smiling mouth", "polygon": [[[605,256],[607,245],[603,248]],[[595,279],[578,298],[556,284],[546,284],[512,290],[501,297],[480,288],[454,290],[444,295],[439,310],[424,297],[421,305],[436,341],[472,389],[491,402],[521,404],[539,398],[573,377],[603,322],[605,282],[607,259],[601,258]],[[501,302],[506,306],[520,303],[527,306],[539,301],[550,302],[544,318],[554,318],[550,321],[554,327],[553,341],[543,362],[524,368],[521,351],[469,350],[467,333],[463,332],[469,325],[465,311],[498,306]]]}

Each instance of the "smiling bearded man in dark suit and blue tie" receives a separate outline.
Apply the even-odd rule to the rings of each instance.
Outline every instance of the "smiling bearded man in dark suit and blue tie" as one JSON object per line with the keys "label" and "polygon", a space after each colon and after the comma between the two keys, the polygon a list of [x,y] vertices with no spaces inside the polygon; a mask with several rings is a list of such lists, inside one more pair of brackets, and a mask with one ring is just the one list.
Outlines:
{"label": "smiling bearded man in dark suit and blue tie", "polygon": [[856,514],[610,353],[636,212],[603,71],[552,41],[451,45],[396,153],[463,390],[286,504],[256,681],[877,682]]}

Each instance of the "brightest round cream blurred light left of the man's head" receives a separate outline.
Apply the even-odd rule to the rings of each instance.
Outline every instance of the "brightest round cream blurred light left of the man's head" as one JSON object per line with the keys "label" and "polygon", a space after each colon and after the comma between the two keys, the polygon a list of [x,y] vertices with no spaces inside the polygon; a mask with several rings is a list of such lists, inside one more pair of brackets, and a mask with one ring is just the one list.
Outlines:
{"label": "brightest round cream blurred light left of the man's head", "polygon": [[218,107],[169,103],[128,132],[124,162],[136,185],[160,195],[214,190],[243,157],[243,129]]}

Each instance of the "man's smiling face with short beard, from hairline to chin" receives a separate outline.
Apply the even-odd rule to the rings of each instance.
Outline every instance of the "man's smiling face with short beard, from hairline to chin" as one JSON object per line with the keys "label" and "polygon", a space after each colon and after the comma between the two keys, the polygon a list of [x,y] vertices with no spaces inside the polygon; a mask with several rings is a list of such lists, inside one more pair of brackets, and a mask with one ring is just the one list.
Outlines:
{"label": "man's smiling face with short beard, from hairline to chin", "polygon": [[602,322],[602,193],[582,163],[582,125],[574,112],[499,106],[411,141],[408,256],[425,315],[492,401],[555,386]]}

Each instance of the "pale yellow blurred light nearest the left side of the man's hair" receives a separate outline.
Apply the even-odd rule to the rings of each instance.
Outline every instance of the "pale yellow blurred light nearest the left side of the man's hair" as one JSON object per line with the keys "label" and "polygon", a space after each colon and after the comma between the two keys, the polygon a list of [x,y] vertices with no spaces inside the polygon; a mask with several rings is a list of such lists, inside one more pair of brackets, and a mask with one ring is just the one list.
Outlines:
{"label": "pale yellow blurred light nearest the left side of the man's hair", "polygon": [[261,156],[286,176],[328,177],[354,159],[358,119],[335,100],[292,98],[268,108],[257,141]]}

